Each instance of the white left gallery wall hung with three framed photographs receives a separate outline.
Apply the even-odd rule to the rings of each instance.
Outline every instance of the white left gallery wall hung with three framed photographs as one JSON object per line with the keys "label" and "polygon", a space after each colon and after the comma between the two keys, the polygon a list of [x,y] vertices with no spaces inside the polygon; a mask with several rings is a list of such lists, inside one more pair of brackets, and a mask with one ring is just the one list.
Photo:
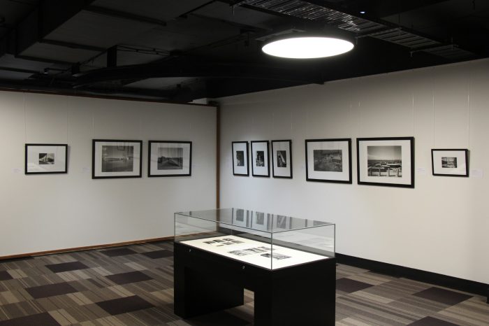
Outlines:
{"label": "white left gallery wall hung with three framed photographs", "polygon": [[[173,236],[215,208],[216,109],[0,92],[0,256]],[[92,139],[143,141],[142,178],[92,180]],[[147,141],[192,141],[192,175],[147,177]],[[68,173],[24,174],[24,143],[67,143]]]}

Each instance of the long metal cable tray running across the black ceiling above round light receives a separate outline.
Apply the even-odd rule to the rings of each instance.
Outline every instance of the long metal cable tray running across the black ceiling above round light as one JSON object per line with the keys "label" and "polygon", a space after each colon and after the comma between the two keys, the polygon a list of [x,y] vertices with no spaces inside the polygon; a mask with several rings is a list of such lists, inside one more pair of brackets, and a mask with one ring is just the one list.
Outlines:
{"label": "long metal cable tray running across the black ceiling above round light", "polygon": [[[419,36],[401,27],[392,27],[392,24],[372,22],[348,13],[319,6],[302,0],[245,0],[238,4],[260,8],[263,10],[289,15],[304,20],[324,22],[325,24],[351,31],[358,37],[373,37],[379,40],[395,43],[409,48],[411,52],[428,52],[432,55],[446,59],[461,59],[473,55],[472,52],[462,50],[455,45],[446,45],[424,36]],[[421,50],[422,49],[422,50]]]}

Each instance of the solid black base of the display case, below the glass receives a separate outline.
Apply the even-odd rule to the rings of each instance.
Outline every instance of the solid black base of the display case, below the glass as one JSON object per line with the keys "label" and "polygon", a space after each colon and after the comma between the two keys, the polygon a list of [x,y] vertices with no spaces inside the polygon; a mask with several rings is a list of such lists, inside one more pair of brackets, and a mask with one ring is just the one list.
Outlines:
{"label": "solid black base of the display case, below the glass", "polygon": [[335,325],[336,260],[264,269],[175,243],[175,313],[191,318],[241,306],[254,292],[254,325]]}

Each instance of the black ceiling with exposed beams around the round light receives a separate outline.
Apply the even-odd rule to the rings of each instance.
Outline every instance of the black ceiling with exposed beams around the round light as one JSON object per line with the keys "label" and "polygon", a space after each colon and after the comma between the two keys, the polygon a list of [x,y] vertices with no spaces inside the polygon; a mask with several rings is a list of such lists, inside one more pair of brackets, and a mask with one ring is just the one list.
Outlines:
{"label": "black ceiling with exposed beams around the round light", "polygon": [[[261,52],[302,31],[356,48]],[[3,88],[188,102],[488,56],[487,0],[0,0]]]}

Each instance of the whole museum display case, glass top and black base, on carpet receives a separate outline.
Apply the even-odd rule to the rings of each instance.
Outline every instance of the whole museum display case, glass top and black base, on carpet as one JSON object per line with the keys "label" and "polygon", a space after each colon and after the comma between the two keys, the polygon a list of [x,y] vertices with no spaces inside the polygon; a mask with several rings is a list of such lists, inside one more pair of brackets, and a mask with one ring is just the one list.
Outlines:
{"label": "whole museum display case, glass top and black base, on carpet", "polygon": [[244,304],[255,326],[335,325],[335,225],[241,208],[175,213],[175,314]]}

